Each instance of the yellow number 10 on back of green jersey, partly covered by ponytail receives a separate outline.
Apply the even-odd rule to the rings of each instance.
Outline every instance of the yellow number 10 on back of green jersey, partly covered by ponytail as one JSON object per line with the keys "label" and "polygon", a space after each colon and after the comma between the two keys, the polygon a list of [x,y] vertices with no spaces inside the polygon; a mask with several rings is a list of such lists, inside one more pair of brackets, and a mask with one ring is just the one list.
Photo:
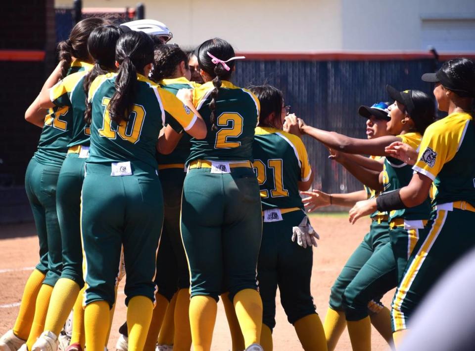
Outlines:
{"label": "yellow number 10 on back of green jersey, partly covered by ponytail", "polygon": [[109,98],[102,98],[102,106],[105,106],[105,110],[102,128],[99,129],[99,135],[109,139],[115,139],[116,135],[119,134],[122,139],[127,140],[132,144],[137,143],[142,132],[143,120],[145,118],[145,109],[143,106],[136,104],[132,105],[132,111],[130,112],[127,123],[121,122],[118,128],[113,129],[111,126],[112,121],[110,120],[109,109],[107,108],[109,102]]}

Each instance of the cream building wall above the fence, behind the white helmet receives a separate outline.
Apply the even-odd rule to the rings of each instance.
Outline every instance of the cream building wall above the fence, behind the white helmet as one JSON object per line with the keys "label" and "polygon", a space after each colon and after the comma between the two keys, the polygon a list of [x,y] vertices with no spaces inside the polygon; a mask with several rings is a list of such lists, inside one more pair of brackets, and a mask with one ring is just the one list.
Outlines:
{"label": "cream building wall above the fence, behind the white helmet", "polygon": [[[135,6],[140,0],[83,0],[84,7]],[[173,41],[195,46],[221,37],[239,51],[341,48],[341,0],[142,0],[145,17],[167,24]],[[70,6],[72,0],[55,0]]]}

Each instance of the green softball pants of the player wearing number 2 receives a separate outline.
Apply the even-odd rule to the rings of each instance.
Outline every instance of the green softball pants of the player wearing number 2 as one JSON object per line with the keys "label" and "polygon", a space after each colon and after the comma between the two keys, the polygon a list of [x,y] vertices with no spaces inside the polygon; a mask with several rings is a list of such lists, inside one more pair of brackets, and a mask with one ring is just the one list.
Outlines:
{"label": "green softball pants of the player wearing number 2", "polygon": [[239,291],[257,289],[262,213],[253,169],[237,167],[225,174],[190,169],[183,188],[181,232],[191,296],[218,301],[229,291],[233,301]]}

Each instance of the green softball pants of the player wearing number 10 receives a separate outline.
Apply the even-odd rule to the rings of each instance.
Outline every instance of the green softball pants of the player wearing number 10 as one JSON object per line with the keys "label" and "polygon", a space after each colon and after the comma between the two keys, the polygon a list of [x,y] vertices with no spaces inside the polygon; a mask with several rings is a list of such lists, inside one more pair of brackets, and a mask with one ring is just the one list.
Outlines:
{"label": "green softball pants of the player wearing number 10", "polygon": [[112,307],[124,246],[126,304],[134,296],[155,299],[156,250],[163,196],[156,170],[132,164],[133,175],[111,176],[111,166],[86,162],[81,203],[86,257],[86,304]]}

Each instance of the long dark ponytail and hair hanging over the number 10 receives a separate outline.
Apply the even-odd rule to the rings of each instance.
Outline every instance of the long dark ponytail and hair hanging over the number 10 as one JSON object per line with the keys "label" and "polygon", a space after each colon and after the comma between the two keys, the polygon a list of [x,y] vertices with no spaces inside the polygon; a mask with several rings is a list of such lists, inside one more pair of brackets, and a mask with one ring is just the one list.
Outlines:
{"label": "long dark ponytail and hair hanging over the number 10", "polygon": [[120,124],[129,120],[136,97],[137,73],[153,62],[153,41],[143,32],[127,32],[120,36],[115,49],[119,70],[115,78],[115,93],[109,103],[110,119]]}

